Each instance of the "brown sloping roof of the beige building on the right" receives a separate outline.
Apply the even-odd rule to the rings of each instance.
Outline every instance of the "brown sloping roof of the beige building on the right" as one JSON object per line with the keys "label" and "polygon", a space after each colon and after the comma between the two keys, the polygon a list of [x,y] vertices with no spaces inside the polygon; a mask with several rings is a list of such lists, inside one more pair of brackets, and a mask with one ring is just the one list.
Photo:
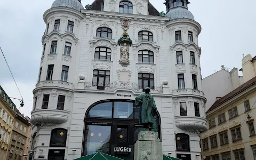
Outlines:
{"label": "brown sloping roof of the beige building on the right", "polygon": [[245,91],[246,89],[248,89],[249,87],[251,87],[253,85],[256,85],[256,77],[250,79],[250,81],[247,81],[246,83],[244,83],[241,86],[237,87],[237,89],[235,89],[232,92],[228,93],[227,95],[225,95],[221,99],[215,101],[215,103],[213,103],[213,105],[206,111],[206,114],[209,113],[211,110],[219,107],[223,103],[227,102],[228,100],[234,98],[237,94]]}

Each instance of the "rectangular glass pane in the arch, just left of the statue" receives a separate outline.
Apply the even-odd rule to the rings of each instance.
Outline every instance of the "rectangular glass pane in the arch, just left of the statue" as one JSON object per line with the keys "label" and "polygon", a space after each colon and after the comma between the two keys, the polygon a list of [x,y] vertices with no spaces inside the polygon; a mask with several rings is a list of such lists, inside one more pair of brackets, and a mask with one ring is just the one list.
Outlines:
{"label": "rectangular glass pane in the arch, just left of the statue", "polygon": [[114,118],[133,119],[133,103],[114,102]]}

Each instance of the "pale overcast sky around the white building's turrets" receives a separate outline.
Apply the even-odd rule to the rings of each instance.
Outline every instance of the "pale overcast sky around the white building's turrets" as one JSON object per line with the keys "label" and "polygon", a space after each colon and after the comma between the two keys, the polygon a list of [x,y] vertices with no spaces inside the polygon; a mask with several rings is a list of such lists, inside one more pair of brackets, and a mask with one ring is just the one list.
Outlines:
{"label": "pale overcast sky around the white building's turrets", "polygon": [[[82,0],[83,6],[93,0]],[[160,3],[161,2],[161,3]],[[163,0],[150,0],[156,9],[165,11]],[[43,13],[53,0],[0,0],[0,46],[20,87],[25,106],[21,113],[30,117],[33,89],[37,81],[45,30]],[[202,26],[199,47],[202,48],[202,76],[221,69],[242,66],[242,54],[255,55],[251,46],[256,38],[256,1],[190,0],[189,10]],[[9,97],[21,98],[12,76],[0,54],[0,85]],[[13,100],[19,107],[20,102]]]}

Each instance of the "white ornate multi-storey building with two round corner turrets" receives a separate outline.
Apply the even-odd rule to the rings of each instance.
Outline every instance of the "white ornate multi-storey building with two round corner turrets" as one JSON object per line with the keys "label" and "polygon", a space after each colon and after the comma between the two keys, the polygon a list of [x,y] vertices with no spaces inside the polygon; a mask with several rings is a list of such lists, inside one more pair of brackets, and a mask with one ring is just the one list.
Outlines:
{"label": "white ornate multi-storey building with two round corner turrets", "polygon": [[165,14],[148,0],[95,0],[86,9],[79,0],[54,1],[43,16],[29,158],[101,151],[133,159],[141,130],[134,100],[150,86],[163,154],[199,159],[206,129],[201,26],[188,4],[166,1]]}

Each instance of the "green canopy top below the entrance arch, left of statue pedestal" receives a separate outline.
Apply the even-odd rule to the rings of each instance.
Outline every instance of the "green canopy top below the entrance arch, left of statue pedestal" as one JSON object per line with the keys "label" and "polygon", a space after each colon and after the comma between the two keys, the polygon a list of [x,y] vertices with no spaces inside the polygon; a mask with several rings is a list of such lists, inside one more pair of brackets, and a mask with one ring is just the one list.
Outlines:
{"label": "green canopy top below the entrance arch, left of statue pedestal", "polygon": [[80,157],[80,158],[77,158],[77,159],[74,159],[74,160],[101,160],[101,159],[102,160],[124,160],[124,159],[121,159],[121,158],[117,158],[117,157],[114,157],[114,156],[103,154],[101,152],[97,152],[97,153],[94,153],[94,154],[91,154],[91,155],[83,156],[83,157]]}

